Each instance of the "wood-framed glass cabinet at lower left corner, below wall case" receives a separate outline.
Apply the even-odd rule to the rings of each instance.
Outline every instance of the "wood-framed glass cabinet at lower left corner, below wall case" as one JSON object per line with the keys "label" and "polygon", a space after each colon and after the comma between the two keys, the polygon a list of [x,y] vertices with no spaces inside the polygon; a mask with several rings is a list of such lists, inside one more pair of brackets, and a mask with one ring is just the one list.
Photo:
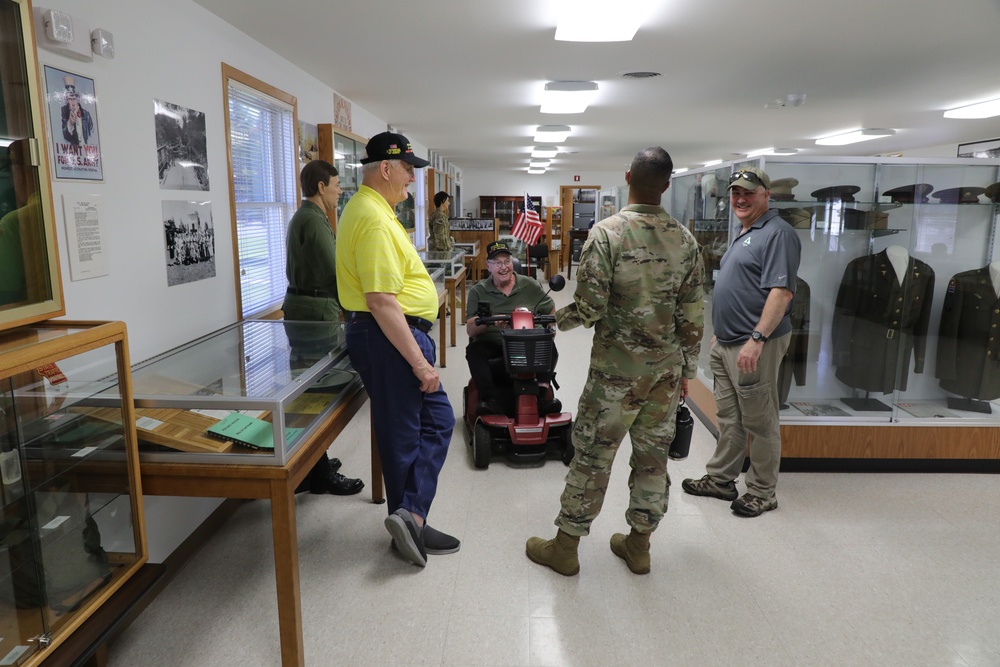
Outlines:
{"label": "wood-framed glass cabinet at lower left corner, below wall case", "polygon": [[128,374],[121,322],[0,333],[0,664],[44,660],[146,560]]}

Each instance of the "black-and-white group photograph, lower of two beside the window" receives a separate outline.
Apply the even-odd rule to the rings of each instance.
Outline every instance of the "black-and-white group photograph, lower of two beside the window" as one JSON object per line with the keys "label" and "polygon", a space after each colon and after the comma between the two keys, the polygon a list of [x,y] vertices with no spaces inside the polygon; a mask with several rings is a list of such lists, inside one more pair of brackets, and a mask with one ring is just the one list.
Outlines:
{"label": "black-and-white group photograph, lower of two beside the window", "polygon": [[163,241],[169,287],[215,277],[212,202],[164,201]]}

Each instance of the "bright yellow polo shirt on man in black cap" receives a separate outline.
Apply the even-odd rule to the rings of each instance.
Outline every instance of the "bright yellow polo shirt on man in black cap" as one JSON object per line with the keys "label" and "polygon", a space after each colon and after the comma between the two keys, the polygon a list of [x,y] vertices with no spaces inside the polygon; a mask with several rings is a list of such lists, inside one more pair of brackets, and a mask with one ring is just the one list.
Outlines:
{"label": "bright yellow polo shirt on man in black cap", "polygon": [[365,294],[395,294],[405,315],[434,321],[437,287],[392,207],[367,185],[337,223],[337,292],[345,310],[368,311]]}

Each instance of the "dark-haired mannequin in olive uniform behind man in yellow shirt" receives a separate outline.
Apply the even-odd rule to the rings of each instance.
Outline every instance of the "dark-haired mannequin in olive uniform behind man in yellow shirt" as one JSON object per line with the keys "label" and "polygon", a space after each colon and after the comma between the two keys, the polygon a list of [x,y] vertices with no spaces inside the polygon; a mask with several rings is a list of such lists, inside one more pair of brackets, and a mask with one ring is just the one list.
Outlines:
{"label": "dark-haired mannequin in olive uniform behind man in yellow shirt", "polygon": [[[309,354],[310,347],[326,354],[330,350],[329,342],[304,340],[296,335],[299,331],[315,332],[316,327],[296,329],[294,322],[338,322],[341,319],[337,301],[337,241],[326,211],[337,209],[337,200],[343,190],[337,168],[324,160],[313,160],[303,167],[299,182],[304,200],[288,223],[285,265],[288,292],[281,308],[285,313],[285,329],[292,354]],[[331,327],[331,336],[338,331]],[[339,470],[340,459],[330,459],[324,452],[296,493],[308,490],[349,496],[364,488],[363,481],[344,477]]]}

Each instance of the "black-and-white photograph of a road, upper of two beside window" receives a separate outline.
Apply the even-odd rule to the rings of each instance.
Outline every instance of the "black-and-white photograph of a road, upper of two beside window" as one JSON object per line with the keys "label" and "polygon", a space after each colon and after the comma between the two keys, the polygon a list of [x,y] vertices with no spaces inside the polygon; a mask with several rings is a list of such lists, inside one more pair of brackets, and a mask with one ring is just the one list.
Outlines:
{"label": "black-and-white photograph of a road, upper of two beside window", "polygon": [[208,190],[205,114],[153,100],[161,190]]}

